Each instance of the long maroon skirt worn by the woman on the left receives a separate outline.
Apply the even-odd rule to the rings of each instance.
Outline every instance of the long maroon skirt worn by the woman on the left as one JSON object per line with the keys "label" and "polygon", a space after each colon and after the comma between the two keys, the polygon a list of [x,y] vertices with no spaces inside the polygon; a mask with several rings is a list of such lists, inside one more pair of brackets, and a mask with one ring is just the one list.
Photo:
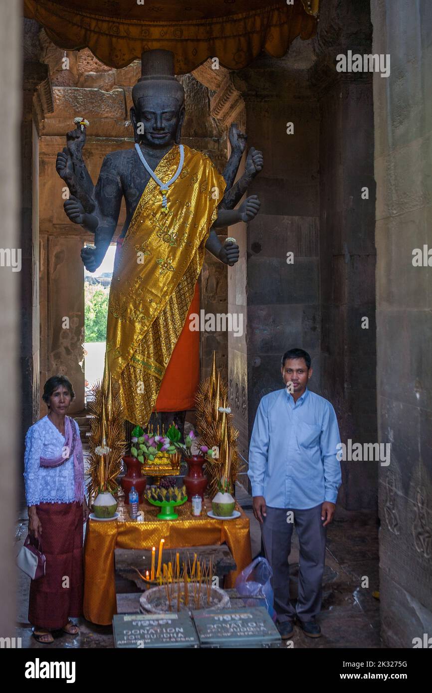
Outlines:
{"label": "long maroon skirt worn by the woman on the left", "polygon": [[28,620],[55,630],[83,613],[83,506],[41,503],[37,516],[46,567],[44,577],[31,581]]}

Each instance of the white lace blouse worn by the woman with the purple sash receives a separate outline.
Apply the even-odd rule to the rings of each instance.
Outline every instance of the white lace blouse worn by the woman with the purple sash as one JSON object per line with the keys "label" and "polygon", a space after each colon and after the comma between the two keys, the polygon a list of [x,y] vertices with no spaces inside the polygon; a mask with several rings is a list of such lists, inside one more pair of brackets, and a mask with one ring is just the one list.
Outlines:
{"label": "white lace blouse worn by the woman with the purple sash", "polygon": [[[77,435],[78,423],[74,421]],[[24,480],[27,505],[39,503],[72,503],[74,489],[74,455],[58,467],[40,467],[40,457],[59,457],[65,439],[48,416],[37,421],[26,434]]]}

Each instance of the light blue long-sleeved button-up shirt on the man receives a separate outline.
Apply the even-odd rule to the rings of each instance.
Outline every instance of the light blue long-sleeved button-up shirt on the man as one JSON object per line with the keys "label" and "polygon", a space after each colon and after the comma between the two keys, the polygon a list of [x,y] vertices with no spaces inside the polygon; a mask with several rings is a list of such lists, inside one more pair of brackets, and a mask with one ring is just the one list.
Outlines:
{"label": "light blue long-sleeved button-up shirt on the man", "polygon": [[334,408],[306,388],[294,401],[288,390],[261,399],[249,448],[252,495],[273,508],[306,510],[336,503],[341,482]]}

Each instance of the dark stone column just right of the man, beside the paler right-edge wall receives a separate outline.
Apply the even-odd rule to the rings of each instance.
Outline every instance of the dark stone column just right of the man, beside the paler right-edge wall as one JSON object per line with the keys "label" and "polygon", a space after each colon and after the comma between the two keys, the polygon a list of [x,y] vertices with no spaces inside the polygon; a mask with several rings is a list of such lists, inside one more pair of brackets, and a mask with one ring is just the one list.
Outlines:
{"label": "dark stone column just right of the man, beside the paler right-edge wall", "polygon": [[[319,392],[342,441],[361,444],[377,441],[372,74],[337,72],[336,56],[371,53],[371,41],[369,3],[323,3],[310,75],[320,107]],[[342,469],[339,502],[376,512],[377,463]]]}

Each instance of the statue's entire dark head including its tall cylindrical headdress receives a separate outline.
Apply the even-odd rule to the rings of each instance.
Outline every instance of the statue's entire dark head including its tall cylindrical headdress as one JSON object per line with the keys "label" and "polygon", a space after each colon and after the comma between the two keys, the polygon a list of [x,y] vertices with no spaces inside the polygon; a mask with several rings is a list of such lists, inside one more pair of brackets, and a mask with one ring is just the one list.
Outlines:
{"label": "statue's entire dark head including its tall cylindrical headdress", "polygon": [[184,121],[184,89],[174,76],[171,51],[145,51],[141,78],[132,89],[130,119],[135,141],[150,147],[180,143]]}

